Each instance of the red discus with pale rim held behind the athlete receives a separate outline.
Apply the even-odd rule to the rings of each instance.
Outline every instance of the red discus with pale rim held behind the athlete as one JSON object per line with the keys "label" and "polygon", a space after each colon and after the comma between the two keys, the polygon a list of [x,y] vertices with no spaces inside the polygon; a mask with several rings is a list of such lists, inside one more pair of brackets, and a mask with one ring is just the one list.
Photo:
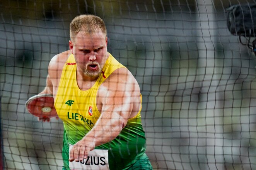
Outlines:
{"label": "red discus with pale rim held behind the athlete", "polygon": [[25,107],[29,113],[39,118],[58,117],[51,94],[32,96],[27,100]]}

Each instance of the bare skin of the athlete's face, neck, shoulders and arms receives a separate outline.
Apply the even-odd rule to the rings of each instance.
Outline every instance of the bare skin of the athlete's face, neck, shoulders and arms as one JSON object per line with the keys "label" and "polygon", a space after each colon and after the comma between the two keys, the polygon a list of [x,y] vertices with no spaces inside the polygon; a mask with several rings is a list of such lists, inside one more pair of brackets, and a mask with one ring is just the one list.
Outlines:
{"label": "bare skin of the athlete's face, neck, shoulders and arms", "polygon": [[[92,35],[79,32],[74,42],[69,41],[70,50],[51,59],[46,88],[41,93],[50,93],[56,97],[62,68],[70,54],[74,55],[77,63],[77,84],[80,90],[91,88],[110,55],[107,52],[107,43],[108,38],[102,32]],[[79,162],[79,158],[82,161],[96,146],[116,138],[128,119],[139,112],[140,102],[140,88],[130,71],[127,68],[115,70],[102,83],[97,93],[96,104],[101,116],[90,132],[70,150],[69,161]]]}

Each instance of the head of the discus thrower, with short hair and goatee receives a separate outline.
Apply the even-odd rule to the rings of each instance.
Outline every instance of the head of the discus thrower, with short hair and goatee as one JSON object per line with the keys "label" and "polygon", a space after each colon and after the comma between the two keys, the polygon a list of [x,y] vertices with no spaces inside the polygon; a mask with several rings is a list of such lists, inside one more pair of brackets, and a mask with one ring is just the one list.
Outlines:
{"label": "head of the discus thrower, with short hair and goatee", "polygon": [[89,77],[98,77],[108,57],[107,31],[95,15],[79,15],[70,23],[69,47],[77,67]]}

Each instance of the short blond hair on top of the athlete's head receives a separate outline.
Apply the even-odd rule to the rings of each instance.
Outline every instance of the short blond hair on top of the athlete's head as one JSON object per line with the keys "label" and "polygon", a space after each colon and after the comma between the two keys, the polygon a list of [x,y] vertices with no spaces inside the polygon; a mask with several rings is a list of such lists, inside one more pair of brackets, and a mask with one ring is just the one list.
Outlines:
{"label": "short blond hair on top of the athlete's head", "polygon": [[102,31],[107,36],[107,29],[104,21],[95,15],[79,15],[70,23],[70,40],[73,41],[77,33],[83,31],[93,34]]}

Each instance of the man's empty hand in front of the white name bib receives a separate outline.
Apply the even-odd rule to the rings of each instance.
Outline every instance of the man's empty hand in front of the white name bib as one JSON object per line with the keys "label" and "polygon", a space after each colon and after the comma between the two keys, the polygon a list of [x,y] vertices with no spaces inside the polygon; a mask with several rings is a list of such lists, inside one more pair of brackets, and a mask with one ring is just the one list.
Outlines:
{"label": "man's empty hand in front of the white name bib", "polygon": [[69,152],[69,161],[79,162],[84,158],[88,157],[88,154],[91,150],[94,150],[95,143],[93,140],[89,140],[87,137],[82,138],[78,141]]}

